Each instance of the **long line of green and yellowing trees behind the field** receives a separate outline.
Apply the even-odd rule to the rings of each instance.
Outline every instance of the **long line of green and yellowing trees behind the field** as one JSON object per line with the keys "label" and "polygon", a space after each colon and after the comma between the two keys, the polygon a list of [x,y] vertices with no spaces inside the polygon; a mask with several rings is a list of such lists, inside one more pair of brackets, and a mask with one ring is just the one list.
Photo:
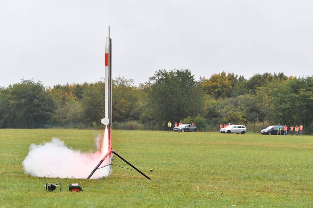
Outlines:
{"label": "long line of green and yellowing trees behind the field", "polygon": [[[159,70],[138,87],[117,77],[112,121],[206,123],[268,122],[304,125],[311,132],[313,77],[256,74],[249,80],[225,72],[196,80],[188,69]],[[54,85],[21,80],[0,88],[0,128],[36,128],[43,123],[100,124],[104,83]],[[39,125],[40,124],[40,125]]]}

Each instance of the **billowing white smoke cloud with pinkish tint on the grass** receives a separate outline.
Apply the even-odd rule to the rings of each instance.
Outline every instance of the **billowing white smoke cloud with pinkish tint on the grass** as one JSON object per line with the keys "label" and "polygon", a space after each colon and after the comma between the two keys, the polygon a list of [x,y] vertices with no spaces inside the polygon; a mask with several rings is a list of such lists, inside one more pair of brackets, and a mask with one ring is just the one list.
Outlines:
{"label": "billowing white smoke cloud with pinkish tint on the grass", "polygon": [[[99,143],[98,143],[99,144]],[[102,159],[101,152],[80,152],[65,146],[58,138],[43,144],[31,144],[25,157],[25,174],[37,177],[87,178]],[[109,164],[109,158],[101,166]],[[101,167],[100,166],[100,167]],[[97,170],[91,179],[107,177],[110,166]]]}

